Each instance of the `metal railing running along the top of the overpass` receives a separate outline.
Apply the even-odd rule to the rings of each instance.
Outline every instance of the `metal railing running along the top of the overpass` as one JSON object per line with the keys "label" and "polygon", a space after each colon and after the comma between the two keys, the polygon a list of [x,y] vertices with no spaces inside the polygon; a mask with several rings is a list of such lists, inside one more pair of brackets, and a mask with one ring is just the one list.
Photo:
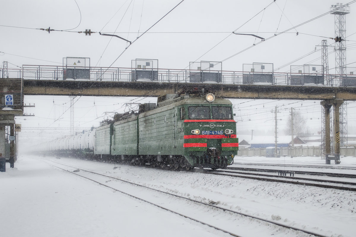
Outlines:
{"label": "metal railing running along the top of the overpass", "polygon": [[[25,80],[75,81],[158,81],[181,83],[264,84],[264,85],[330,85],[356,86],[356,75],[324,77],[320,74],[286,72],[242,72],[187,69],[132,69],[106,67],[74,67],[49,65],[23,65],[22,69],[1,69],[0,77]],[[331,83],[326,79],[331,78]],[[324,80],[325,79],[325,80]]]}

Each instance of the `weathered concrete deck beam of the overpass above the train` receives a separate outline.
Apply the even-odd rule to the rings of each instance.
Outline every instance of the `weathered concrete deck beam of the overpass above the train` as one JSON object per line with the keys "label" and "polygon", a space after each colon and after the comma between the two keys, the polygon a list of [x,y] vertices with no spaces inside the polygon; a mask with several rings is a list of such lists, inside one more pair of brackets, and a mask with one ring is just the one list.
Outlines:
{"label": "weathered concrete deck beam of the overpass above the train", "polygon": [[229,99],[356,100],[356,87],[236,85],[152,81],[23,80],[24,95],[158,97],[189,88],[205,88],[206,90],[213,91],[218,97]]}

